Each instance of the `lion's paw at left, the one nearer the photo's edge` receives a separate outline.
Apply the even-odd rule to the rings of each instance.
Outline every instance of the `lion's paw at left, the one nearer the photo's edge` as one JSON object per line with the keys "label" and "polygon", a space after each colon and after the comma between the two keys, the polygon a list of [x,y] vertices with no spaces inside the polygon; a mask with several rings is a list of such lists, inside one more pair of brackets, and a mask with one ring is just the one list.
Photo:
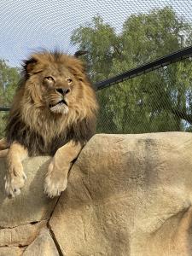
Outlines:
{"label": "lion's paw at left, the one nearer the photo's edge", "polygon": [[20,195],[20,189],[26,181],[26,174],[22,170],[22,166],[17,166],[9,170],[9,174],[4,177],[5,191],[9,198]]}

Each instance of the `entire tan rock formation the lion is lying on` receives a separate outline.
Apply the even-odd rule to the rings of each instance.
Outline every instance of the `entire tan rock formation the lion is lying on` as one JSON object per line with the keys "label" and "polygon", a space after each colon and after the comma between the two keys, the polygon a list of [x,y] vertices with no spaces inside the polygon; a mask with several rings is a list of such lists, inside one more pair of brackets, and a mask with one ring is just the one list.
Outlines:
{"label": "entire tan rock formation the lion is lying on", "polygon": [[191,133],[96,135],[58,202],[43,193],[49,158],[26,160],[22,194],[0,192],[0,255],[192,255],[191,154]]}

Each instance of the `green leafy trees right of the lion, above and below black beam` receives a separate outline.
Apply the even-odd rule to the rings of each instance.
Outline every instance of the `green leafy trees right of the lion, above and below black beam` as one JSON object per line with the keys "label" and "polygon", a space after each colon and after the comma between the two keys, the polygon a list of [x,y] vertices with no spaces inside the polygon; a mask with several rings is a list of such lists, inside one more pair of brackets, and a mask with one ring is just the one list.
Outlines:
{"label": "green leafy trees right of the lion, above and below black beam", "polygon": [[[122,32],[94,17],[73,32],[93,82],[112,77],[192,42],[191,26],[171,8],[131,15]],[[98,132],[192,131],[192,61],[180,61],[97,92]]]}

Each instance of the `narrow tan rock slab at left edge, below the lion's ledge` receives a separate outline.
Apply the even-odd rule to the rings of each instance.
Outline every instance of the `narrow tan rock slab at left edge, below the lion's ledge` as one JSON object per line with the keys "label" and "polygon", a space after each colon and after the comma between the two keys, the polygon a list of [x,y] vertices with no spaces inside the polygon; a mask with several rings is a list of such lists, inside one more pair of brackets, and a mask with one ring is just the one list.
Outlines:
{"label": "narrow tan rock slab at left edge, below the lion's ledge", "polygon": [[24,224],[12,229],[0,230],[0,247],[26,246],[38,236],[39,231],[46,227],[47,221],[43,220],[36,224]]}

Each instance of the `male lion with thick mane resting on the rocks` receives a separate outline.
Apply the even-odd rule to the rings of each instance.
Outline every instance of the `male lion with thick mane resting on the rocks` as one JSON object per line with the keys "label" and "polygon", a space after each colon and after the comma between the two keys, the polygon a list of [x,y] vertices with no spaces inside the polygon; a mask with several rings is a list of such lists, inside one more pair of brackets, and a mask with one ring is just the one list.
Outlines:
{"label": "male lion with thick mane resting on the rocks", "polygon": [[44,180],[50,198],[67,188],[67,175],[84,144],[95,133],[96,93],[75,56],[58,51],[33,53],[24,61],[22,79],[15,93],[0,141],[7,154],[5,190],[9,198],[20,194],[27,156],[51,155]]}

